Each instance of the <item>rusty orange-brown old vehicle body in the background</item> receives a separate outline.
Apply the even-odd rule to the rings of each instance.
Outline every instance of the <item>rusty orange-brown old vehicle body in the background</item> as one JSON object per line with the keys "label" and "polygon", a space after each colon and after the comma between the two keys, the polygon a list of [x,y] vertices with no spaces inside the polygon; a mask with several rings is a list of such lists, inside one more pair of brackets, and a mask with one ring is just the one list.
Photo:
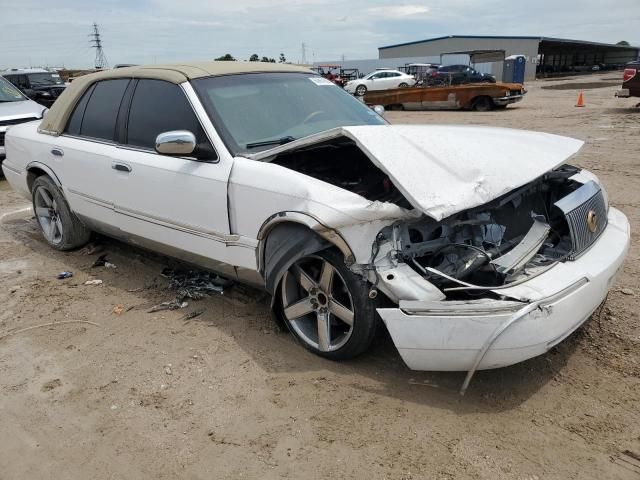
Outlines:
{"label": "rusty orange-brown old vehicle body in the background", "polygon": [[472,109],[486,112],[519,102],[526,92],[519,83],[469,83],[367,92],[364,101],[389,110]]}

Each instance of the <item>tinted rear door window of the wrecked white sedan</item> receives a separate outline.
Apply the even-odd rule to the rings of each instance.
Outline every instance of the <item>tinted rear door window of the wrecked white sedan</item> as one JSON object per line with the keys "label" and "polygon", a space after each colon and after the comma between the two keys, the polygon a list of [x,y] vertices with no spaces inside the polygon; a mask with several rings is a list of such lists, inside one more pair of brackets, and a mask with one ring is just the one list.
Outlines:
{"label": "tinted rear door window of the wrecked white sedan", "polygon": [[114,140],[118,110],[128,84],[128,79],[103,80],[93,87],[80,126],[81,136]]}

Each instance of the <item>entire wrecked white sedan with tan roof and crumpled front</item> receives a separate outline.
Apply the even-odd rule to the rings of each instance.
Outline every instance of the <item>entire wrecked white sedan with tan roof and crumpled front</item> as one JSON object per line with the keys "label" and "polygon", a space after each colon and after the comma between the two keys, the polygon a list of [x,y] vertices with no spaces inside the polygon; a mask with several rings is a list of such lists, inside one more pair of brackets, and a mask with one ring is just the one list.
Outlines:
{"label": "entire wrecked white sedan with tan roof and crumpled front", "polygon": [[389,125],[312,72],[215,62],[74,81],[7,134],[4,173],[53,248],[91,231],[266,289],[309,350],[369,347],[378,317],[418,370],[540,355],[605,298],[626,217],[582,142]]}

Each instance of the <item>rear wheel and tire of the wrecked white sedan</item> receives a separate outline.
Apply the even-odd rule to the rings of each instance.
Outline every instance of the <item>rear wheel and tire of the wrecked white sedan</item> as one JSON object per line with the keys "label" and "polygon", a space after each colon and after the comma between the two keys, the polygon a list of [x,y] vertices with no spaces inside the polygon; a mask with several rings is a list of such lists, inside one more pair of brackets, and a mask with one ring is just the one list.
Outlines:
{"label": "rear wheel and tire of the wrecked white sedan", "polygon": [[33,212],[47,243],[56,250],[73,250],[89,241],[91,231],[78,220],[58,186],[46,175],[31,187]]}

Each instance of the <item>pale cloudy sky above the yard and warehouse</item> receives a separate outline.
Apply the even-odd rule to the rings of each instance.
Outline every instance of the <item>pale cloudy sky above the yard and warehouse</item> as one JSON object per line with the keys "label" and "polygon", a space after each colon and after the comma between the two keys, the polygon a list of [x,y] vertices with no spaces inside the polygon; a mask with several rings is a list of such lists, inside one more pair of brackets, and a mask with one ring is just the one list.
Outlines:
{"label": "pale cloudy sky above the yard and warehouse", "polygon": [[308,62],[377,58],[377,47],[443,35],[534,35],[640,45],[640,0],[0,0],[0,70],[93,66],[98,23],[110,65],[253,53]]}

